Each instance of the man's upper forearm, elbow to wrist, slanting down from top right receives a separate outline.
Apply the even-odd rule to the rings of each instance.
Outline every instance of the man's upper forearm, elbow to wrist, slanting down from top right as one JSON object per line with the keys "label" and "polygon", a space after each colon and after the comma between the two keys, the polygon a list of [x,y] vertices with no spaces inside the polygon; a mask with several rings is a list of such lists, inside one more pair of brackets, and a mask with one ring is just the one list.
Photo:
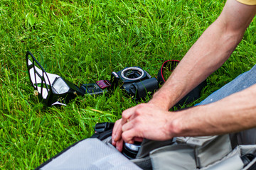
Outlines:
{"label": "man's upper forearm, elbow to wrist, slanting down from top right", "polygon": [[243,34],[223,30],[225,28],[215,21],[183,57],[152,100],[164,101],[162,105],[171,108],[218,69],[235,50]]}

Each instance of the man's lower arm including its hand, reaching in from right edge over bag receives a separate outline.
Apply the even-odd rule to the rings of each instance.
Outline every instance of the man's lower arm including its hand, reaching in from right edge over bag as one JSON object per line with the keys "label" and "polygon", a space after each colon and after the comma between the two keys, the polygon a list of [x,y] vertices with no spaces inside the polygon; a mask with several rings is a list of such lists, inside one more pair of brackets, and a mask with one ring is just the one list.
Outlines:
{"label": "man's lower arm including its hand, reaching in from right edge over bag", "polygon": [[256,85],[215,103],[178,112],[161,111],[153,105],[140,107],[130,119],[122,127],[125,142],[133,142],[134,137],[169,140],[247,130],[256,127]]}

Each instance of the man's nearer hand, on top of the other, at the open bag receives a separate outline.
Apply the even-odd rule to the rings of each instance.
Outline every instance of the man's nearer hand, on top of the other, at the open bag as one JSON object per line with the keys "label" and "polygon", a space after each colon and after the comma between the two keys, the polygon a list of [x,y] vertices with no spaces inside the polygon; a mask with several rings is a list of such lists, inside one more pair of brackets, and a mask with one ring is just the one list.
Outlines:
{"label": "man's nearer hand, on top of the other, at the open bag", "polygon": [[169,140],[172,138],[169,130],[171,113],[153,104],[140,104],[132,114],[124,112],[122,118],[129,120],[122,126],[124,142],[133,143],[137,138],[149,140]]}

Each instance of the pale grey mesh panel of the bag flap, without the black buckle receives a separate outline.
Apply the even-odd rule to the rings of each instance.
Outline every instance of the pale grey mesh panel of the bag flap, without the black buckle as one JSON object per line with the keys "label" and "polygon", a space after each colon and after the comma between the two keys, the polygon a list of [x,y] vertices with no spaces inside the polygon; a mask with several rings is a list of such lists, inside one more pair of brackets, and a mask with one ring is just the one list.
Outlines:
{"label": "pale grey mesh panel of the bag flap, without the black buckle", "polygon": [[82,140],[41,169],[140,169],[98,139]]}

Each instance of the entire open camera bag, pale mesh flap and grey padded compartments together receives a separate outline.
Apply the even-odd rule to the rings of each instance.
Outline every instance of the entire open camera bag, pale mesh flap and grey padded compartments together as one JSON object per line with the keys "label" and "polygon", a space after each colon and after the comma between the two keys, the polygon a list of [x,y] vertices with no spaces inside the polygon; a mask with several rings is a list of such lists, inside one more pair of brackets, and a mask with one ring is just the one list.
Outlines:
{"label": "entire open camera bag, pale mesh flap and grey padded compartments together", "polygon": [[97,124],[92,137],[76,142],[36,169],[256,169],[256,145],[232,149],[229,135],[186,137],[186,142],[178,137],[174,141],[144,140],[137,157],[127,159],[111,145],[113,125]]}

